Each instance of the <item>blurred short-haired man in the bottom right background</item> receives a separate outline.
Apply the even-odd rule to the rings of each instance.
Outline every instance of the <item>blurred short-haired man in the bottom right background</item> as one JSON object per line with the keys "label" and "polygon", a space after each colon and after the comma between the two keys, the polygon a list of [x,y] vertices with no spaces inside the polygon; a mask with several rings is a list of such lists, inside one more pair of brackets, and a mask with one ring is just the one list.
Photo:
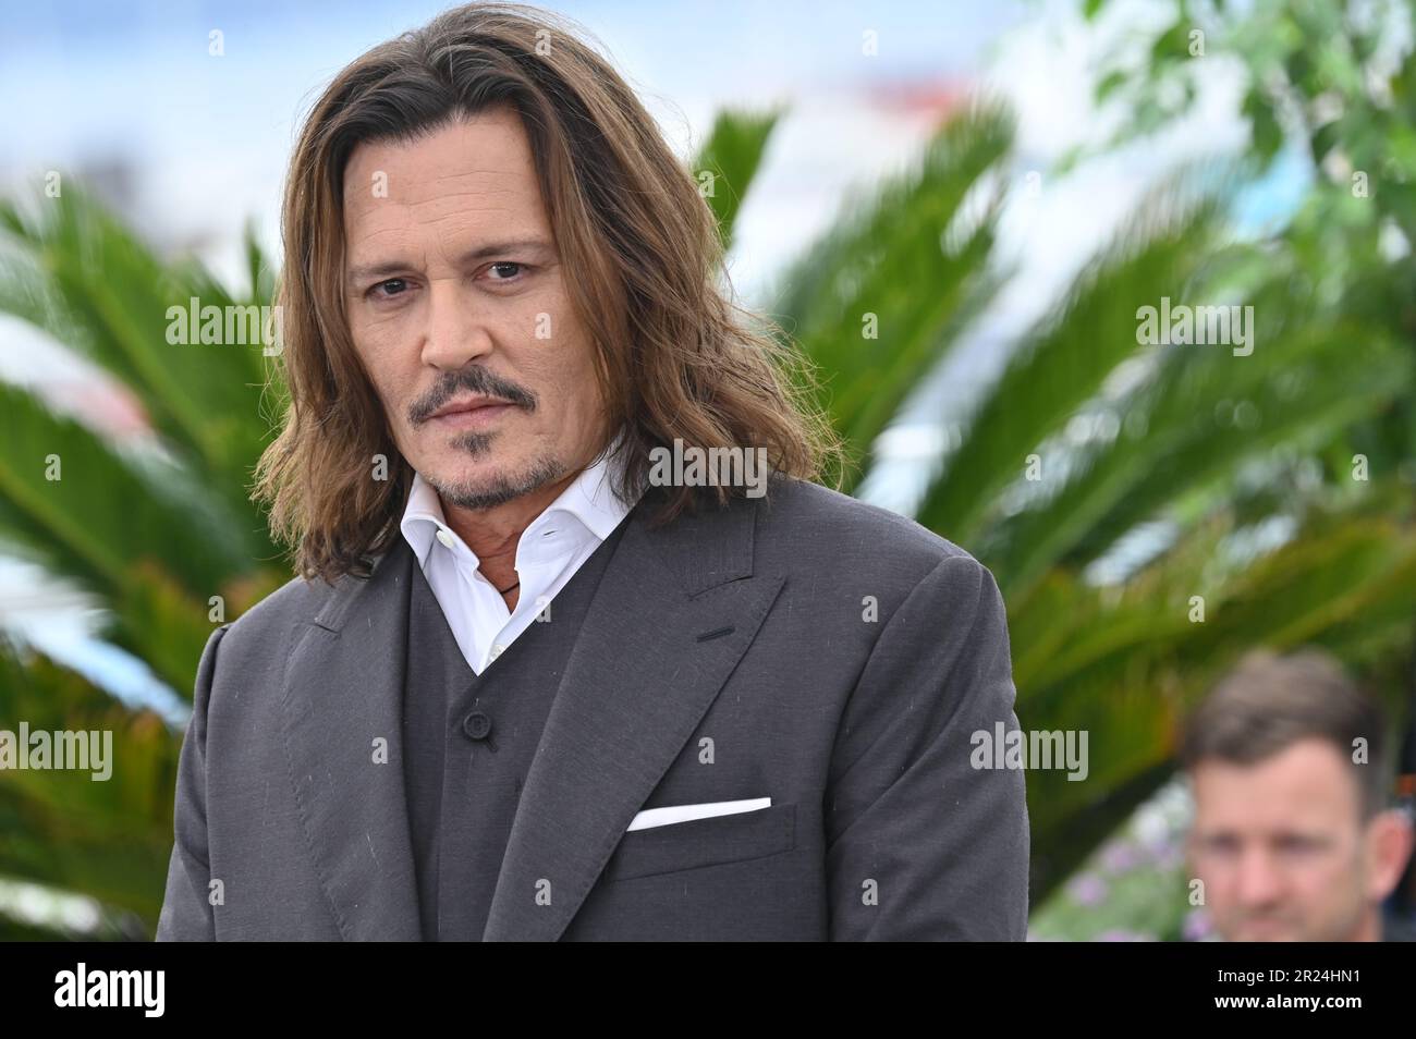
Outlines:
{"label": "blurred short-haired man in the bottom right background", "polygon": [[1410,940],[1382,903],[1412,851],[1379,705],[1324,653],[1246,657],[1191,718],[1189,861],[1229,941]]}

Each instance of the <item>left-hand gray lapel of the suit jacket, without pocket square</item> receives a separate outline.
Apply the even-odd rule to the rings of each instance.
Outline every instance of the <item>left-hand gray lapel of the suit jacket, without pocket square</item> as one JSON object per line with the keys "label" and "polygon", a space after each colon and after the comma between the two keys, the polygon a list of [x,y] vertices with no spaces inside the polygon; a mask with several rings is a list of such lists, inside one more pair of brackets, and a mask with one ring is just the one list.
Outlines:
{"label": "left-hand gray lapel of the suit jacket, without pocket square", "polygon": [[290,780],[347,941],[421,937],[401,756],[412,566],[399,536],[367,580],[341,578],[286,667]]}

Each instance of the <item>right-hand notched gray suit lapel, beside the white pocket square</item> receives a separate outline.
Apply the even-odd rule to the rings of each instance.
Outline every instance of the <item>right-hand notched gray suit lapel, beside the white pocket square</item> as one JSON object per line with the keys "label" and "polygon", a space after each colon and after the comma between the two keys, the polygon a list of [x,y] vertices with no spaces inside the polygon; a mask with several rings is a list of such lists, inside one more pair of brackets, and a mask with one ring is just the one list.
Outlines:
{"label": "right-hand notched gray suit lapel, beside the white pocket square", "polygon": [[[644,503],[641,503],[643,505]],[[649,529],[606,566],[527,774],[484,941],[555,941],[746,653],[784,582],[756,501]]]}

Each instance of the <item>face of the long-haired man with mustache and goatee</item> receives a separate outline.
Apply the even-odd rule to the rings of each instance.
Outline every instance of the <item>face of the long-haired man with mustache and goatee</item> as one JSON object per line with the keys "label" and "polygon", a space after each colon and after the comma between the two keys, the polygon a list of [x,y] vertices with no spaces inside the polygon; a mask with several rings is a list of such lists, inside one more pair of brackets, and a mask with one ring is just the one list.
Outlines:
{"label": "face of the long-haired man with mustache and goatee", "polygon": [[[490,508],[599,449],[602,398],[521,120],[494,109],[344,174],[346,314],[398,450]],[[438,415],[474,396],[506,406]]]}

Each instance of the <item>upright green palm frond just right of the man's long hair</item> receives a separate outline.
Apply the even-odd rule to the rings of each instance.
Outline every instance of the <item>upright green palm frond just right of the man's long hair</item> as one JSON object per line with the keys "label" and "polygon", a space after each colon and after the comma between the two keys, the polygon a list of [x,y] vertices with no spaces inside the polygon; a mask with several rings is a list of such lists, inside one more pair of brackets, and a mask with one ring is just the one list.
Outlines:
{"label": "upright green palm frond just right of the man's long hair", "polygon": [[[869,459],[908,392],[997,287],[987,266],[995,174],[1012,134],[1001,106],[956,115],[916,166],[858,193],[779,283],[773,318],[826,374],[817,403],[851,464]],[[857,474],[843,476],[850,490]]]}

